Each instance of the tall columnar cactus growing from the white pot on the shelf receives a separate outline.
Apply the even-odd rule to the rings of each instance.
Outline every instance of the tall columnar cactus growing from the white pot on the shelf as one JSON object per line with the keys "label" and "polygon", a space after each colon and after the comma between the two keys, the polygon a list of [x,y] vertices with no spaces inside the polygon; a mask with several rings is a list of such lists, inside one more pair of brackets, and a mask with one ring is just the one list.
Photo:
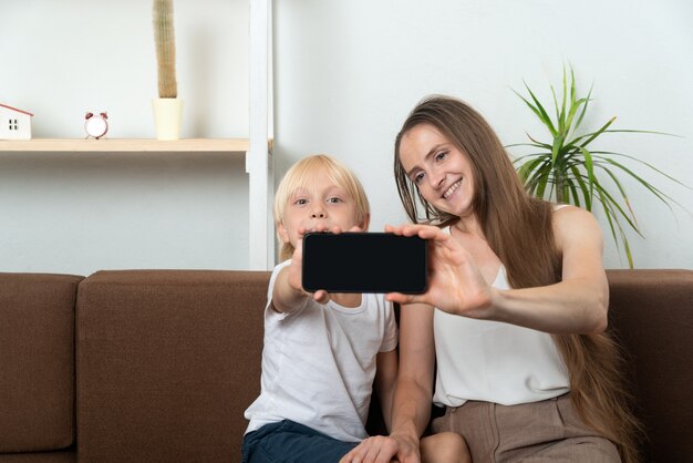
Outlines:
{"label": "tall columnar cactus growing from the white pot on the shelf", "polygon": [[178,96],[176,83],[176,41],[174,34],[173,0],[154,0],[154,42],[158,73],[158,96],[175,99]]}

